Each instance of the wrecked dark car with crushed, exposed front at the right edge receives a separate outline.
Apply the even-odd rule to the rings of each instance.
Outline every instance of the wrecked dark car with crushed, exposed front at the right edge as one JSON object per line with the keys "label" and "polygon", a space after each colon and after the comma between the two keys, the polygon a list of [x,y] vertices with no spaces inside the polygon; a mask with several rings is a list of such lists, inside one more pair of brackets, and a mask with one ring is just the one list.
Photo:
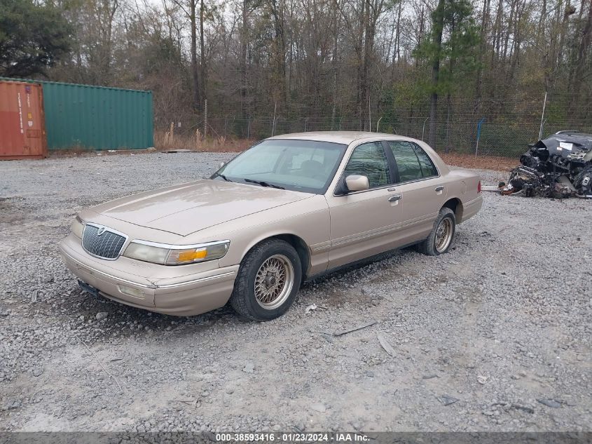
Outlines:
{"label": "wrecked dark car with crushed, exposed front at the right edge", "polygon": [[592,134],[558,131],[531,144],[511,170],[502,194],[592,199]]}

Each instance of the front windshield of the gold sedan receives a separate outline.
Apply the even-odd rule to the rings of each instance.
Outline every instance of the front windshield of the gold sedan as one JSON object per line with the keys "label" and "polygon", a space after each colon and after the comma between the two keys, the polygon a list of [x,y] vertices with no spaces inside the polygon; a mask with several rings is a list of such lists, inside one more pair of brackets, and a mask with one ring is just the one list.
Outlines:
{"label": "front windshield of the gold sedan", "polygon": [[263,140],[220,168],[212,179],[323,194],[346,148],[314,140]]}

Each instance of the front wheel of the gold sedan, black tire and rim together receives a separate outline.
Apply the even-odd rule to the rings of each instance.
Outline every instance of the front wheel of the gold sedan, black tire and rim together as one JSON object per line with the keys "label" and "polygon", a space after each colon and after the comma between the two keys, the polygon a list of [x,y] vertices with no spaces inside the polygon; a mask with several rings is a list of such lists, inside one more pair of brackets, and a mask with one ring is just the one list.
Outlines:
{"label": "front wheel of the gold sedan, black tire and rim together", "polygon": [[270,321],[296,298],[302,265],[294,247],[280,239],[255,245],[240,263],[230,305],[245,318]]}

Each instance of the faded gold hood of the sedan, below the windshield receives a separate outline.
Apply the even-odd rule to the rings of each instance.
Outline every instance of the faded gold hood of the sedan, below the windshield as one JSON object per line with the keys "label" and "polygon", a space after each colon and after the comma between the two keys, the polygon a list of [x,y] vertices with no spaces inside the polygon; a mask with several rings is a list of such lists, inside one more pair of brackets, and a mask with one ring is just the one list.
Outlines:
{"label": "faded gold hood of the sedan, below the windshield", "polygon": [[198,180],[102,203],[92,210],[142,227],[187,236],[310,196],[259,185]]}

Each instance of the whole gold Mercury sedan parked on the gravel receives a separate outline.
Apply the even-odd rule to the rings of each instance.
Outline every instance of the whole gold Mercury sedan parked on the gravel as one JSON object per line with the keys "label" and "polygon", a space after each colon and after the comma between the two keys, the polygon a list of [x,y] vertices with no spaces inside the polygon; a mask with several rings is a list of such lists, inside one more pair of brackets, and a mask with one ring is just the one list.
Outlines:
{"label": "whole gold Mercury sedan parked on the gravel", "polygon": [[82,211],[60,252],[92,295],[175,316],[230,302],[266,321],[320,274],[408,245],[446,253],[481,203],[479,176],[420,140],[287,134],[209,180]]}

